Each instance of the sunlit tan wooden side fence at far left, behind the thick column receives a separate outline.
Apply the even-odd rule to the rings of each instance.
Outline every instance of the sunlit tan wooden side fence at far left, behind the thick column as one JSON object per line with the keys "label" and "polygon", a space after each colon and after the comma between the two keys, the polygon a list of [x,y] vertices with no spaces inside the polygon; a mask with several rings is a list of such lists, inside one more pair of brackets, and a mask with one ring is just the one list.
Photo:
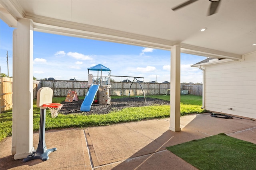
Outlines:
{"label": "sunlit tan wooden side fence at far left, behind the thick column", "polygon": [[[36,98],[38,83],[33,82],[33,98]],[[0,104],[0,113],[12,108],[12,77],[0,77]]]}

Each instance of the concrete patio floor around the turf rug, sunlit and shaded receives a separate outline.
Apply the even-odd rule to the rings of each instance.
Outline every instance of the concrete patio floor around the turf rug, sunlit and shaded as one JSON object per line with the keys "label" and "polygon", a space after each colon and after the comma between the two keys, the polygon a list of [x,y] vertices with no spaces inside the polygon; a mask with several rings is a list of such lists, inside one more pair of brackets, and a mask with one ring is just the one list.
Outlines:
{"label": "concrete patio floor around the turf rug, sunlit and shaded", "polygon": [[[49,159],[22,162],[11,155],[12,137],[0,142],[0,169],[71,170],[194,170],[165,147],[218,133],[256,144],[256,121],[220,119],[210,113],[181,117],[182,131],[172,132],[169,119],[154,119],[116,125],[46,131]],[[34,133],[37,148],[39,133]]]}

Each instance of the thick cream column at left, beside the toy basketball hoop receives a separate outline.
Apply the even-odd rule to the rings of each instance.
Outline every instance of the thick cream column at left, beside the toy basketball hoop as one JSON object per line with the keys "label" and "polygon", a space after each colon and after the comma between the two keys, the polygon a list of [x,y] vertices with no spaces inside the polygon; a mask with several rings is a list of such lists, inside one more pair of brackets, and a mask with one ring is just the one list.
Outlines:
{"label": "thick cream column at left, beside the toy basketball hoop", "polygon": [[33,25],[18,19],[13,32],[12,154],[26,158],[33,147]]}

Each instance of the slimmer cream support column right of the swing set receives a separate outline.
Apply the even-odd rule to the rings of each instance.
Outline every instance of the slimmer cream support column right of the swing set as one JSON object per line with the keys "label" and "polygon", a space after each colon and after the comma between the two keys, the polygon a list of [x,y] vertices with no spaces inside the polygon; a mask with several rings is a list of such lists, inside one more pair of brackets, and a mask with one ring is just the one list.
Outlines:
{"label": "slimmer cream support column right of the swing set", "polygon": [[180,131],[180,46],[171,48],[170,127]]}

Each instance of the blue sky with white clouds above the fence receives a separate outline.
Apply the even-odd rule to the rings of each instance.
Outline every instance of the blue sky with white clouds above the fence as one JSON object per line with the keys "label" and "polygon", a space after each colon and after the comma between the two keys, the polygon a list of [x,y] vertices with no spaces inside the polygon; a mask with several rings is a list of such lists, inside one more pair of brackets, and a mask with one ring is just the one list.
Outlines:
{"label": "blue sky with white clouds above the fence", "polygon": [[[1,73],[7,74],[6,50],[8,50],[9,76],[12,76],[12,32],[0,22]],[[33,76],[53,77],[56,80],[88,80],[87,68],[102,64],[111,75],[144,77],[144,82],[170,82],[170,51],[67,37],[34,31]],[[206,57],[181,54],[181,82],[202,82],[202,70],[190,65]],[[97,72],[90,71],[96,75]],[[107,73],[105,73],[107,74]],[[120,81],[124,78],[114,78]],[[142,80],[142,79],[140,79]]]}

